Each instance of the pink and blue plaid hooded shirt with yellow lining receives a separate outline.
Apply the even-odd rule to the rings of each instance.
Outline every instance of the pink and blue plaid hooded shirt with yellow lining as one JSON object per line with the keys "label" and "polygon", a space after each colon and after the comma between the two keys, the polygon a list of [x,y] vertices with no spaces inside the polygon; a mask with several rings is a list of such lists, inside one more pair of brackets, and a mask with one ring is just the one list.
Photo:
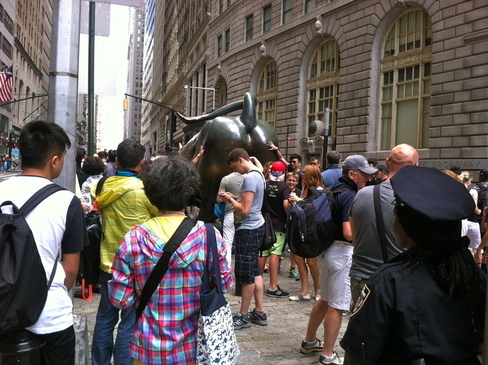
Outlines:
{"label": "pink and blue plaid hooded shirt with yellow lining", "polygon": [[[184,217],[156,217],[126,234],[113,264],[110,300],[118,308],[137,306],[144,283],[161,257],[165,242]],[[199,221],[169,261],[168,271],[136,323],[131,356],[145,364],[196,361],[196,335],[207,231]],[[216,231],[222,287],[233,284],[225,247]],[[213,258],[212,261],[213,263]],[[212,268],[213,266],[211,266]]]}

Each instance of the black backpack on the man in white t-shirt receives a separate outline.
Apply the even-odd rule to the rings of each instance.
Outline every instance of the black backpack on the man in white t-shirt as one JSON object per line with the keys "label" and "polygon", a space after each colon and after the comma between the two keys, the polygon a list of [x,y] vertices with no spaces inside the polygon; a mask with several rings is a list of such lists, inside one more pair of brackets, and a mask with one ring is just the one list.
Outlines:
{"label": "black backpack on the man in white t-shirt", "polygon": [[[46,271],[25,217],[59,190],[65,189],[49,184],[20,209],[11,201],[0,205],[0,335],[32,326],[44,308],[59,255],[47,282]],[[2,213],[1,208],[5,206],[11,206],[13,214]]]}

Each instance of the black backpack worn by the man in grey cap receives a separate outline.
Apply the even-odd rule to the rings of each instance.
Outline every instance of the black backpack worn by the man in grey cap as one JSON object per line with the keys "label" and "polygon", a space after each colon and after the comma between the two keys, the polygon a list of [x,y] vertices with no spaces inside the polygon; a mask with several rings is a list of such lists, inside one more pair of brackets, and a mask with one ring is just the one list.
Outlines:
{"label": "black backpack worn by the man in grey cap", "polygon": [[332,220],[334,194],[351,190],[341,186],[334,190],[309,189],[308,196],[293,204],[288,212],[286,237],[291,252],[304,258],[317,257],[330,247],[336,235]]}

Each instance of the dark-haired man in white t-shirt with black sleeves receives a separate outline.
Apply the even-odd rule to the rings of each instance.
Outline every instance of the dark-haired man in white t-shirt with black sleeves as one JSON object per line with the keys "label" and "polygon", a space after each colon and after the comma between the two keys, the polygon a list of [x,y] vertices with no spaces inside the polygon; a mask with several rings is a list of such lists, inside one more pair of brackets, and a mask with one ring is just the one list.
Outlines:
{"label": "dark-haired man in white t-shirt with black sleeves", "polygon": [[[63,169],[66,148],[71,146],[57,124],[34,121],[20,132],[23,172],[0,183],[0,202],[21,207],[34,193],[56,179]],[[73,304],[68,291],[78,273],[80,251],[86,242],[84,214],[79,199],[68,190],[43,200],[26,217],[49,280],[56,258],[56,273],[39,320],[27,330],[46,342],[41,364],[74,364]]]}

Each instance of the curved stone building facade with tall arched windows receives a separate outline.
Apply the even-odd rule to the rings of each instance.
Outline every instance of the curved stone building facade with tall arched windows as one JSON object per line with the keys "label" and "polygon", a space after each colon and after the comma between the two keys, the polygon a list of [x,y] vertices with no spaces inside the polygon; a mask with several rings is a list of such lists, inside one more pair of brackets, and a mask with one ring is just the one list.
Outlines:
{"label": "curved stone building facade with tall arched windows", "polygon": [[[394,145],[410,143],[426,166],[488,168],[484,0],[205,3],[208,21],[199,24],[205,28],[191,35],[193,46],[178,59],[183,75],[166,86],[185,97],[183,114],[202,114],[252,91],[259,118],[274,126],[288,154],[321,155],[323,137],[309,126],[323,121],[328,108],[327,148],[343,158],[384,160]],[[215,91],[185,95],[183,84]],[[192,133],[177,124],[173,143]]]}

